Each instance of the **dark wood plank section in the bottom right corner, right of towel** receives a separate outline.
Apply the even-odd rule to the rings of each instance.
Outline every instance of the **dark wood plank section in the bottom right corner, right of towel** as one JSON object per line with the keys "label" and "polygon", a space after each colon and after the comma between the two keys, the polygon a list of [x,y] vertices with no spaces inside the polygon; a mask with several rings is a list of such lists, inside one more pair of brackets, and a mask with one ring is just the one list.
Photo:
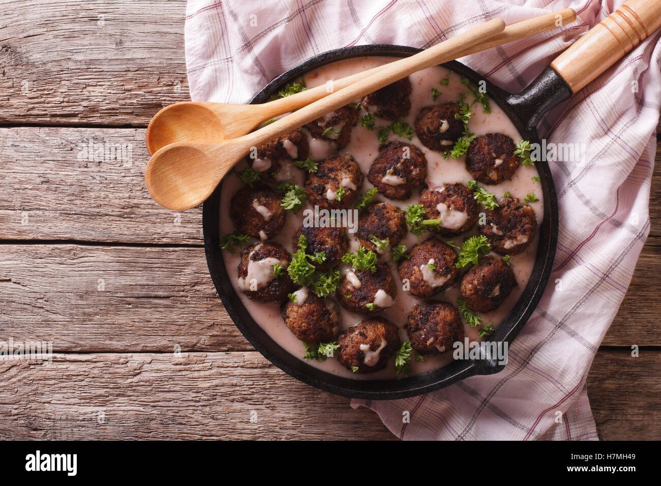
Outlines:
{"label": "dark wood plank section in the bottom right corner, right of towel", "polygon": [[661,437],[661,352],[602,349],[590,369],[588,397],[601,440]]}

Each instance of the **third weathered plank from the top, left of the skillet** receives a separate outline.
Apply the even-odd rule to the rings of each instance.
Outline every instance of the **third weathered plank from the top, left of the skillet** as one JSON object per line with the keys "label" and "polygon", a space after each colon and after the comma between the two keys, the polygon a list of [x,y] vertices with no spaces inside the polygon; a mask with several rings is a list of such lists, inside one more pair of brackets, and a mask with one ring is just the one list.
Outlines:
{"label": "third weathered plank from the top, left of the skillet", "polygon": [[61,351],[251,350],[202,248],[0,245],[0,336]]}

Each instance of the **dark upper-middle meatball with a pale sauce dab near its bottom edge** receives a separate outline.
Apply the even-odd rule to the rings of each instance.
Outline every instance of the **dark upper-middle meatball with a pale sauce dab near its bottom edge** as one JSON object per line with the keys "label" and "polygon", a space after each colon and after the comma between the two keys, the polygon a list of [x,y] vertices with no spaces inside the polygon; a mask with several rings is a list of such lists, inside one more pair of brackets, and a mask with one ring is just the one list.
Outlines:
{"label": "dark upper-middle meatball with a pale sauce dab near its bottom edge", "polygon": [[427,159],[415,145],[391,142],[379,147],[379,155],[369,167],[368,180],[385,197],[408,199],[414,188],[427,179]]}

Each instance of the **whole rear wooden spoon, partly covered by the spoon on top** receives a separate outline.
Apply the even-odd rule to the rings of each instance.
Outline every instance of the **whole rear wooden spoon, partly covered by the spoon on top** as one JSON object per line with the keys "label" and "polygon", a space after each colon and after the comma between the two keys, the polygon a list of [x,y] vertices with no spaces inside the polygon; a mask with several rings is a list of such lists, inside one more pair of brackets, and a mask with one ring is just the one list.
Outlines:
{"label": "whole rear wooden spoon, partly covered by the spoon on top", "polygon": [[[479,42],[473,46],[461,46],[461,50],[454,55],[454,59],[570,24],[574,20],[576,20],[576,12],[572,9],[563,9],[517,22],[507,26],[502,33],[486,42]],[[375,75],[383,67],[385,65],[336,79],[333,81],[333,90],[337,91],[356,81]],[[322,85],[263,104],[227,104],[206,101],[171,104],[155,114],[149,122],[147,150],[150,155],[153,155],[170,143],[213,143],[237,138],[247,134],[266,120],[303,108],[327,95],[329,95],[327,87]]]}

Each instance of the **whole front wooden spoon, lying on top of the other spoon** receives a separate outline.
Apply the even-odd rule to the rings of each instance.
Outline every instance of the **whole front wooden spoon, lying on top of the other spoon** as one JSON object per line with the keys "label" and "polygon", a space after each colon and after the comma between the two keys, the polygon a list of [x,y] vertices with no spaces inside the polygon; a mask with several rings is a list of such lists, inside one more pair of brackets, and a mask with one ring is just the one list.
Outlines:
{"label": "whole front wooden spoon, lying on top of the other spoon", "polygon": [[453,60],[460,48],[484,42],[505,28],[493,19],[458,36],[390,63],[375,75],[315,101],[276,122],[220,143],[176,142],[159,149],[147,164],[145,181],[154,200],[171,210],[187,210],[208,198],[218,183],[250,151],[317,118],[354,102],[420,69]]}

